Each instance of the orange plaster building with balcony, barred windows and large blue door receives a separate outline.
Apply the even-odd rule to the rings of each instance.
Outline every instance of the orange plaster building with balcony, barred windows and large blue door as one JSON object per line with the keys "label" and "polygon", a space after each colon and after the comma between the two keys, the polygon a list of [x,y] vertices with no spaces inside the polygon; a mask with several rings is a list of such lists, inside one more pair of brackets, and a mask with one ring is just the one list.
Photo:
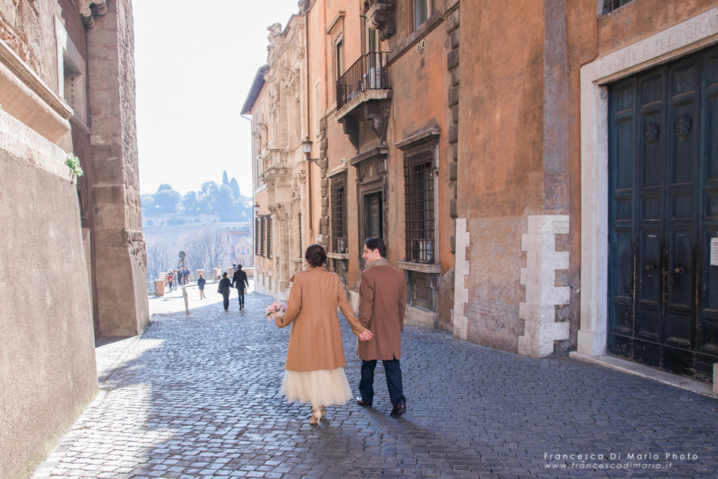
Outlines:
{"label": "orange plaster building with balcony, barred windows and large blue door", "polygon": [[299,6],[317,161],[290,217],[354,302],[383,236],[409,324],[714,381],[718,1]]}

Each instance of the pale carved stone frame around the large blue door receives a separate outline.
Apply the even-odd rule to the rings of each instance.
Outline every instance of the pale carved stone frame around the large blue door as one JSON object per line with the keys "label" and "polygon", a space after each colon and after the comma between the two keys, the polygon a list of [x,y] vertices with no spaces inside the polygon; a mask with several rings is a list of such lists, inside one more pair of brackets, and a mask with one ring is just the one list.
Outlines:
{"label": "pale carved stone frame around the large blue door", "polygon": [[577,354],[607,353],[608,85],[718,44],[716,19],[718,7],[581,68],[581,323]]}

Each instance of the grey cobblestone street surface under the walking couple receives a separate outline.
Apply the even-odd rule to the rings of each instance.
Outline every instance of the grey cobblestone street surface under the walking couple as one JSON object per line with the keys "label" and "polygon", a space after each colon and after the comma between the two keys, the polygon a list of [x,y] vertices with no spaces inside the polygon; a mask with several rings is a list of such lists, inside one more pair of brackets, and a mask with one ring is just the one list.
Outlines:
{"label": "grey cobblestone street surface under the walking couple", "polygon": [[[219,297],[211,284],[208,295]],[[417,327],[404,330],[404,416],[388,415],[378,366],[373,408],[332,406],[312,426],[309,406],[279,394],[289,328],[264,319],[271,301],[251,293],[239,311],[233,297],[224,312],[192,299],[207,305],[154,314],[144,335],[117,343],[100,394],[34,477],[718,475],[716,399]],[[356,393],[355,340],[341,321]]]}

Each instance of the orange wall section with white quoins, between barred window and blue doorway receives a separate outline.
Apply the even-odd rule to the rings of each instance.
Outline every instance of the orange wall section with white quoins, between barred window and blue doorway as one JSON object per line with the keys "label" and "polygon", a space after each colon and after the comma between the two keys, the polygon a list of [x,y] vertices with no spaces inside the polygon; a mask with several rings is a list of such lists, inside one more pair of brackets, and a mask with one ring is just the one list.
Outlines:
{"label": "orange wall section with white quoins, between barred window and blue doorway", "polygon": [[[575,347],[578,68],[596,12],[585,3],[461,5],[457,213],[470,241],[459,337],[528,355]],[[549,223],[561,226],[538,226]]]}

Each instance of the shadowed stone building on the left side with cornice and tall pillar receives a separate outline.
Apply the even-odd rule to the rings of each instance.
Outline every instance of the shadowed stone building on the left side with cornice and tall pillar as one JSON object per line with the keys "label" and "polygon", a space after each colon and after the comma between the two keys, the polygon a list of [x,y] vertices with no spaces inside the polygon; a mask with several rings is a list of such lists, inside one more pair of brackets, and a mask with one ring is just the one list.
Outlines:
{"label": "shadowed stone building on the left side with cornice and tall pillar", "polygon": [[95,396],[95,338],[149,322],[132,24],[129,0],[0,6],[3,478]]}

